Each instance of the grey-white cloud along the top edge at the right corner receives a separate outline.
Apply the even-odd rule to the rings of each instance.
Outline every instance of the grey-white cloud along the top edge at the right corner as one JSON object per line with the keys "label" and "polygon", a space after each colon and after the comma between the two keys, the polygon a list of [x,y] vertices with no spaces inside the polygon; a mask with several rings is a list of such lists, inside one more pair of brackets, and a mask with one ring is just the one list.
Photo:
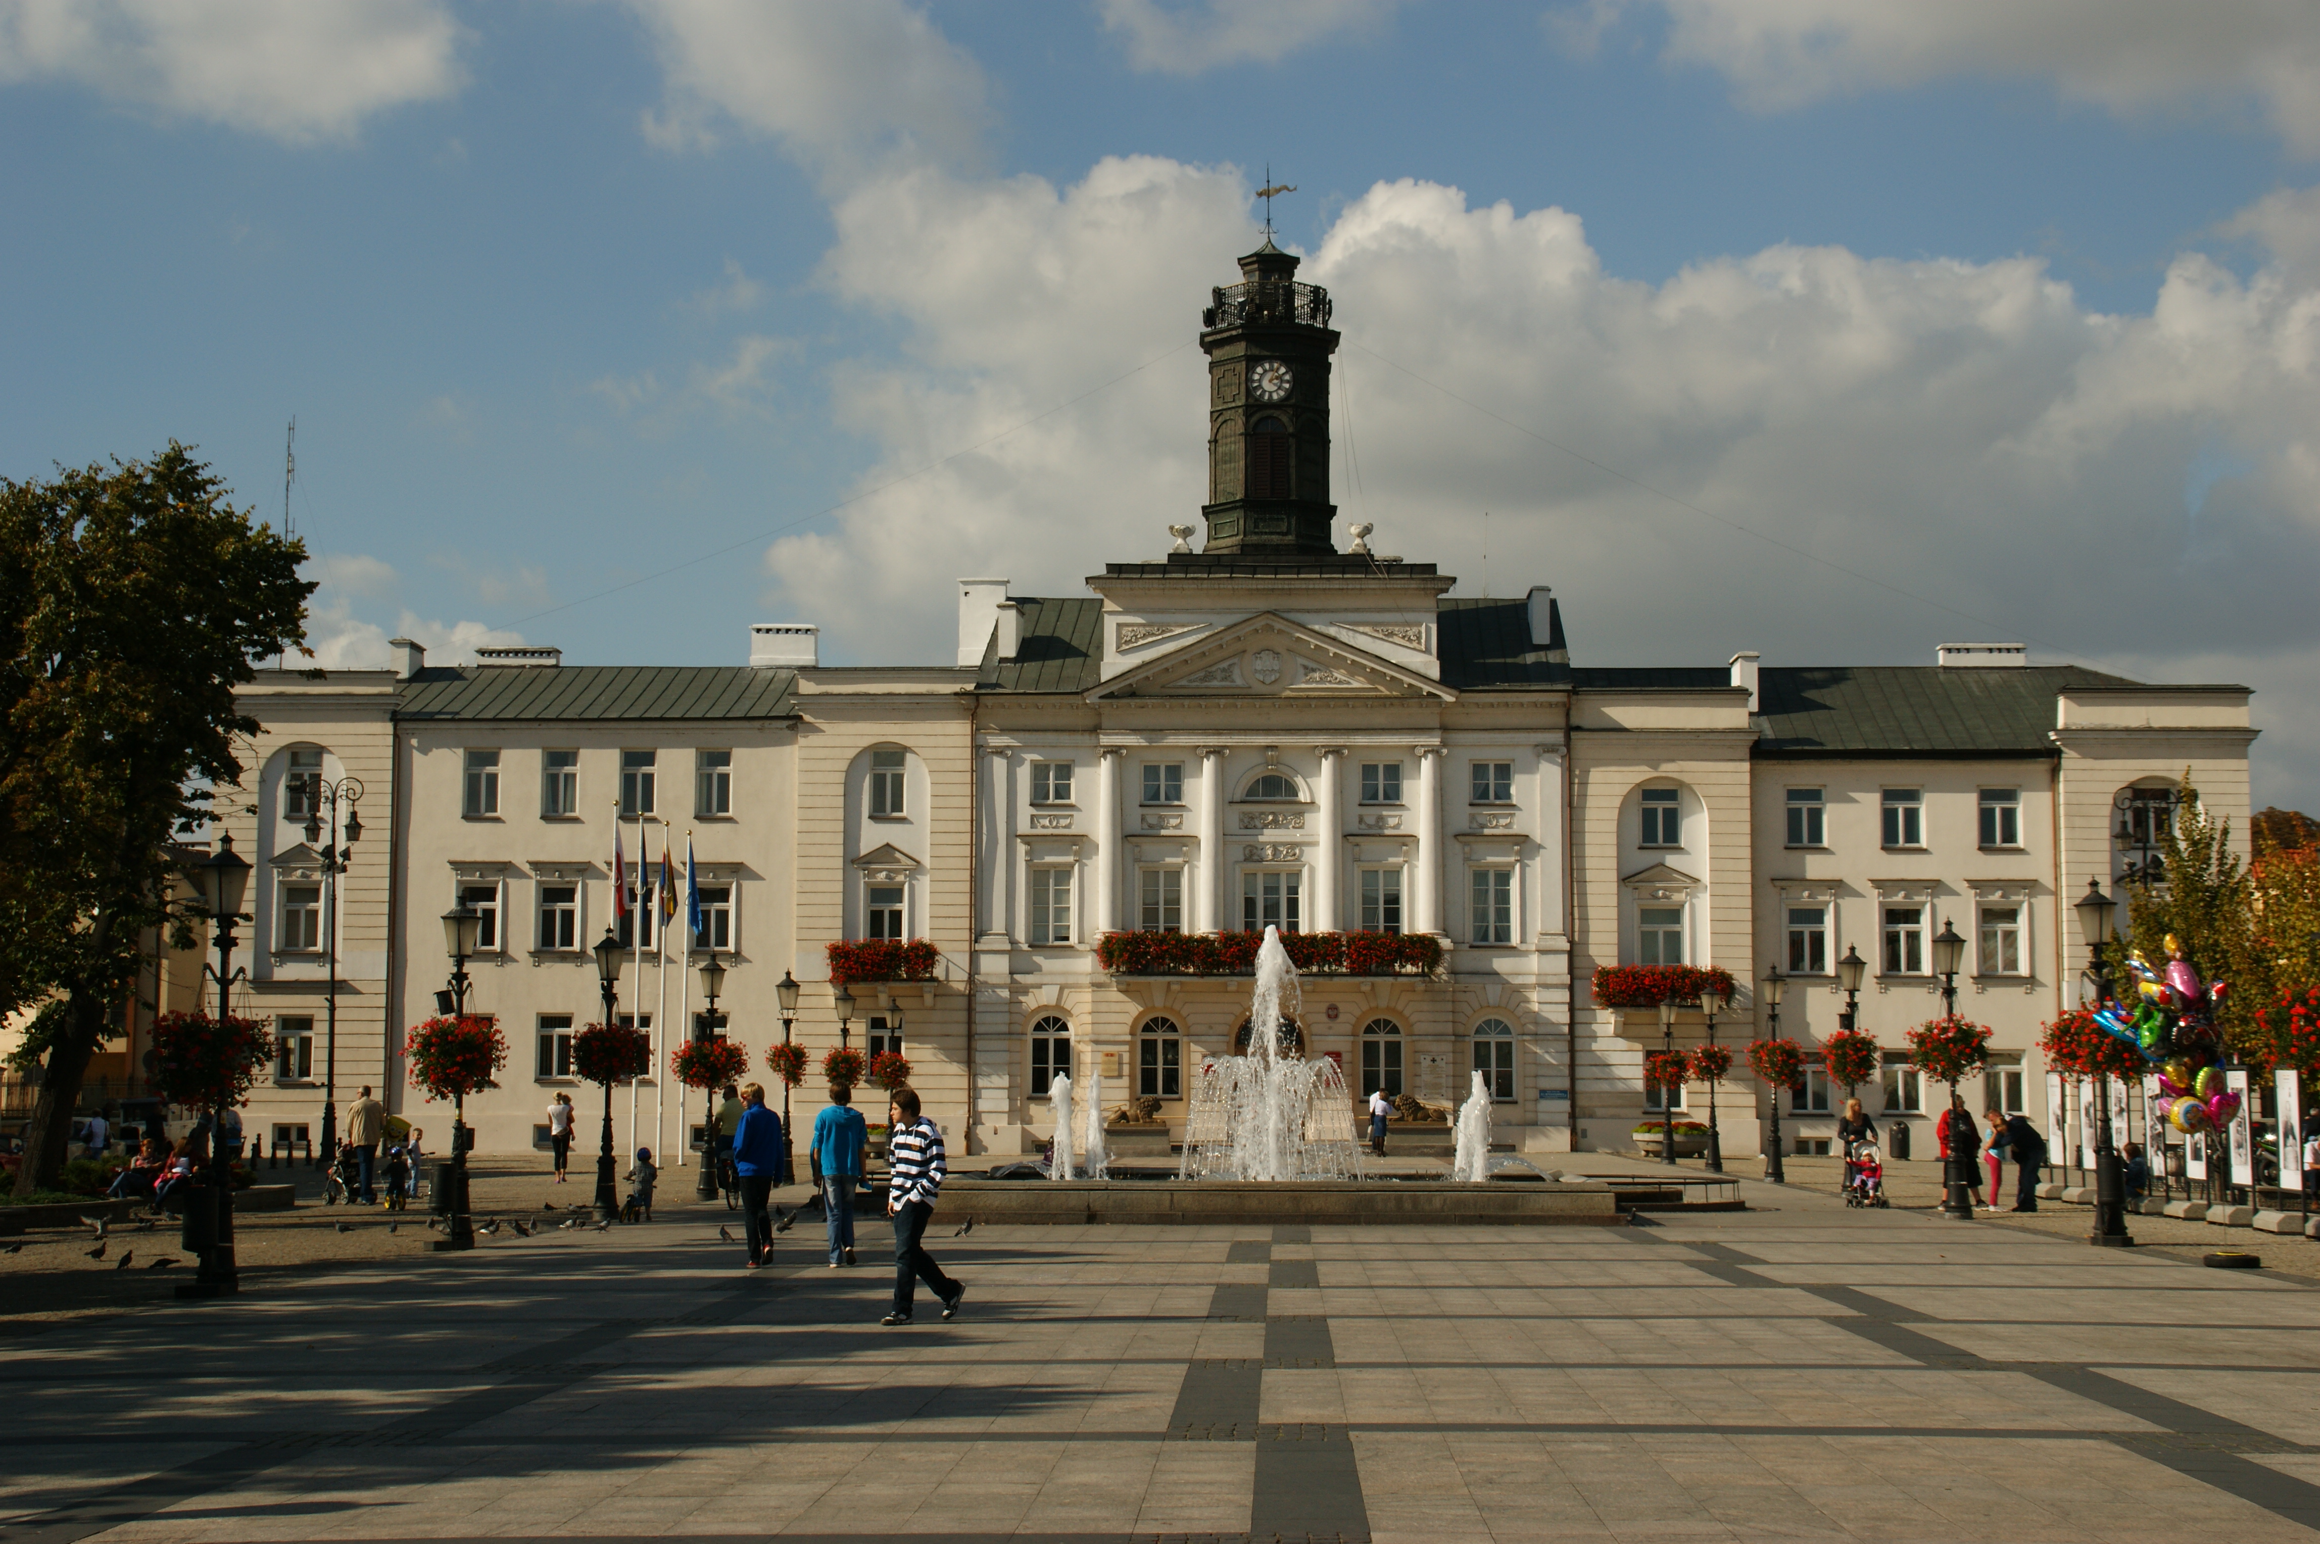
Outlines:
{"label": "grey-white cloud along the top edge at the right corner", "polygon": [[[1668,60],[1731,77],[1740,100],[1786,109],[1951,74],[2044,77],[2111,111],[2255,104],[2299,151],[2320,151],[2320,21],[2311,0],[1652,0]],[[1550,14],[1566,37],[1605,0]]]}

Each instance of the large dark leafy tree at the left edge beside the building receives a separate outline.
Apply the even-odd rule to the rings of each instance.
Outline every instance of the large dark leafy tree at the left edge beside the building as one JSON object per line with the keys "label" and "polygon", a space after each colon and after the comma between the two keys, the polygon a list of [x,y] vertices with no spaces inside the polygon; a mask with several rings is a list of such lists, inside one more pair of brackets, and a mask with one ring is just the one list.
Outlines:
{"label": "large dark leafy tree at the left edge beside the building", "polygon": [[174,842],[237,788],[255,661],[299,647],[304,545],[251,524],[179,445],[0,480],[0,1011],[42,1004],[16,1194],[56,1185],[88,1059],[118,1029],[139,934],[190,944]]}

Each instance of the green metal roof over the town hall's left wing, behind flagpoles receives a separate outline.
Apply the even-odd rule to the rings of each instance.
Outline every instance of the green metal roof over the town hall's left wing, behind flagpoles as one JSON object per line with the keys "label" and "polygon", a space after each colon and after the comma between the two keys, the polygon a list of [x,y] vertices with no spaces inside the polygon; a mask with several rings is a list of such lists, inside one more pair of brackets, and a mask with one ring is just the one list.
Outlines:
{"label": "green metal roof over the town hall's left wing, behind flagpoles", "polygon": [[399,719],[789,719],[796,670],[457,665],[404,682]]}

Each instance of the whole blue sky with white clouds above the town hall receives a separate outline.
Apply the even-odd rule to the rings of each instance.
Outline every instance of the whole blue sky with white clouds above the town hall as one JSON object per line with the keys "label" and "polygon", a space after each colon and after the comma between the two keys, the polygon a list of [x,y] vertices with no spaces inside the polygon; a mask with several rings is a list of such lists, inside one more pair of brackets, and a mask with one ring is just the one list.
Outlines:
{"label": "whole blue sky with white clouds above the town hall", "polygon": [[1195,522],[1211,285],[1339,522],[1587,665],[2257,689],[2320,809],[2311,0],[0,0],[0,475],[195,445],[311,647],[949,661]]}

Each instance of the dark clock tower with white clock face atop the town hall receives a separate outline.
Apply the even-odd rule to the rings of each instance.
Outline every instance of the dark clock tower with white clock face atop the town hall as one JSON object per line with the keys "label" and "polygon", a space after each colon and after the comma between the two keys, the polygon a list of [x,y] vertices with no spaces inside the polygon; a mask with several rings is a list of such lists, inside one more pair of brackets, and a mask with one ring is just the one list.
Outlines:
{"label": "dark clock tower with white clock face atop the town hall", "polygon": [[1199,318],[1209,355],[1206,552],[1327,556],[1329,292],[1297,283],[1297,257],[1264,246],[1241,257],[1241,283],[1213,292]]}

